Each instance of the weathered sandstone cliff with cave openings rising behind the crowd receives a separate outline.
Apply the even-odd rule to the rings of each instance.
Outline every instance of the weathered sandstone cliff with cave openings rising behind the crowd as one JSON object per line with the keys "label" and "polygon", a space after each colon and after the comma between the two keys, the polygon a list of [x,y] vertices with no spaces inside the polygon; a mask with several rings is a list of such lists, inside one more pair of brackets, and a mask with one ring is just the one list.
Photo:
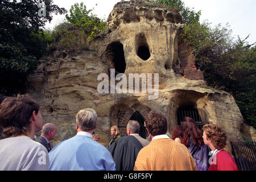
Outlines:
{"label": "weathered sandstone cliff with cave openings rising behind the crowd", "polygon": [[[126,124],[136,111],[143,118],[150,110],[162,111],[171,134],[177,111],[184,106],[197,109],[203,121],[223,126],[230,140],[242,140],[241,133],[255,139],[234,98],[207,87],[195,60],[186,57],[191,53],[180,53],[177,40],[184,24],[179,14],[141,1],[119,2],[109,15],[108,26],[107,33],[91,44],[96,51],[56,51],[28,77],[29,93],[39,101],[44,123],[57,126],[53,146],[76,134],[75,116],[86,107],[97,111],[96,133],[105,146],[110,126],[118,125],[125,135]],[[147,60],[139,56],[146,53],[138,53],[140,47],[150,52]],[[149,100],[152,94],[148,92],[98,93],[101,80],[97,76],[106,73],[110,77],[111,68],[127,77],[129,73],[159,73],[159,97]]]}

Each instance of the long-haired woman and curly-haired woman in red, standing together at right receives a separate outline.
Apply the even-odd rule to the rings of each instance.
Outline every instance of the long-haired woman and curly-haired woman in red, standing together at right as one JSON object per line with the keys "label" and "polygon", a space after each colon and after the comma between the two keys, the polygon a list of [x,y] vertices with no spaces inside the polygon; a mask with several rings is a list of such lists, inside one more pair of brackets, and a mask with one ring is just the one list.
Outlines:
{"label": "long-haired woman and curly-haired woman in red, standing together at right", "polygon": [[232,156],[223,150],[227,135],[218,125],[204,125],[202,133],[192,118],[184,117],[182,125],[175,127],[172,139],[188,148],[200,171],[238,171]]}

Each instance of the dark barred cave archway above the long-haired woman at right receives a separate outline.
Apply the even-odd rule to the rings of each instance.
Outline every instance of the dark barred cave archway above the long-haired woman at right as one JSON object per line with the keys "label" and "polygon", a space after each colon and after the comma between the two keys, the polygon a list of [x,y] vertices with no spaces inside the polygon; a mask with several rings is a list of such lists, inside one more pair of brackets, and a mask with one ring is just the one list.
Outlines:
{"label": "dark barred cave archway above the long-haired woman at right", "polygon": [[[203,112],[204,113],[204,112]],[[203,114],[201,113],[201,115]],[[177,111],[177,123],[182,125],[182,120],[184,117],[192,118],[199,129],[202,129],[205,124],[208,124],[208,119],[205,114],[202,115],[203,119],[200,117],[199,111],[191,106],[179,107]]]}

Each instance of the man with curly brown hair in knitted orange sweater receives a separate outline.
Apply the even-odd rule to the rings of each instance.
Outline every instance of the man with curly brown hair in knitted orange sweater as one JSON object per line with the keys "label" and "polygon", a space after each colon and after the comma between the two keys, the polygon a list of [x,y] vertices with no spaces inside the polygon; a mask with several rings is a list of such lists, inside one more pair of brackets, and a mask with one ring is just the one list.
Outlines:
{"label": "man with curly brown hair in knitted orange sweater", "polygon": [[162,113],[151,111],[145,123],[153,138],[139,151],[134,171],[197,171],[188,148],[166,135],[167,119]]}

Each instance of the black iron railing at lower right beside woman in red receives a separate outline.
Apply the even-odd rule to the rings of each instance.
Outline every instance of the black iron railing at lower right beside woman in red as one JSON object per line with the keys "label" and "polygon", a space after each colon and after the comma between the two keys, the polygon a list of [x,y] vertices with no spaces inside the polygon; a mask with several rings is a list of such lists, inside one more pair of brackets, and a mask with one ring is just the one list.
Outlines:
{"label": "black iron railing at lower right beside woman in red", "polygon": [[240,171],[256,171],[256,142],[230,142]]}

